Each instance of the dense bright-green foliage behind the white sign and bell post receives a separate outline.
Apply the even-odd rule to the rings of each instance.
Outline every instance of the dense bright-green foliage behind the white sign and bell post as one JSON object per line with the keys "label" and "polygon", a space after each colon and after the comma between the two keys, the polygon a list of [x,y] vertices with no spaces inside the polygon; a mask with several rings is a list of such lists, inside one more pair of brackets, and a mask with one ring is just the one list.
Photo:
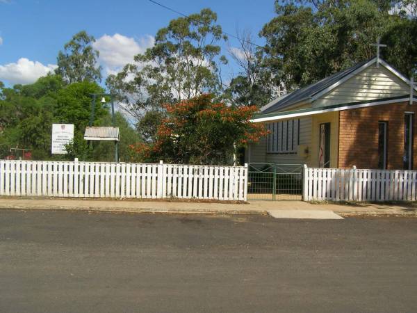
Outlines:
{"label": "dense bright-green foliage behind the white sign and bell post", "polygon": [[[82,81],[66,85],[59,75],[41,77],[33,84],[13,88],[1,87],[0,94],[0,158],[10,154],[10,147],[31,150],[33,159],[69,159],[113,161],[114,143],[87,145],[83,134],[90,120],[92,93],[103,93],[97,83]],[[111,115],[99,99],[95,104],[94,125],[111,125]],[[68,145],[69,154],[51,155],[53,123],[74,124],[74,141]],[[128,160],[129,145],[140,141],[135,129],[120,114],[120,159]],[[110,144],[112,145],[110,147]]]}

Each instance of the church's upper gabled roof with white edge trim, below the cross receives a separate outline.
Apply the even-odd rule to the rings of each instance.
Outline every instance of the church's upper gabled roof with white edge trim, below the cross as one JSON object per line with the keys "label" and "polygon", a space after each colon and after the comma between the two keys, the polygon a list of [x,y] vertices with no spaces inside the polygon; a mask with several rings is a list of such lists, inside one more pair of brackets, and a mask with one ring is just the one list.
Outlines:
{"label": "church's upper gabled roof with white edge trim, below the cross", "polygon": [[[350,77],[353,77],[355,74],[361,72],[362,70],[366,69],[366,67],[376,62],[377,62],[376,57],[371,58],[369,60],[358,63],[357,65],[354,65],[348,68],[347,70],[344,70],[336,74],[333,74],[329,77],[326,77],[325,79],[322,79],[321,81],[318,81],[317,83],[313,83],[304,88],[295,90],[293,93],[289,93],[288,95],[284,95],[282,97],[274,99],[270,103],[263,106],[261,108],[261,112],[271,113],[277,110],[285,109],[286,107],[291,106],[293,104],[297,104],[301,102],[312,102],[313,100],[320,97],[322,94],[328,93],[330,90],[332,90],[333,88],[336,88],[341,83],[343,83],[343,81],[350,79]],[[381,58],[379,58],[379,65],[383,65],[388,70],[393,72],[393,74],[395,74],[397,77],[402,79],[402,81],[409,84],[409,80],[406,77],[402,76],[400,72],[395,70],[388,63],[383,61]]]}

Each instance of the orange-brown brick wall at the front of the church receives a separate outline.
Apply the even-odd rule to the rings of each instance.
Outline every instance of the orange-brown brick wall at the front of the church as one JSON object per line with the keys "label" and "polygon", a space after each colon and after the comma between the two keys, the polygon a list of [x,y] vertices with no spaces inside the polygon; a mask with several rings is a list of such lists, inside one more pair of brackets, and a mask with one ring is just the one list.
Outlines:
{"label": "orange-brown brick wall at the front of the church", "polygon": [[[402,169],[404,152],[404,113],[415,112],[408,102],[340,111],[338,167],[378,168],[378,122],[388,122],[387,168]],[[417,128],[414,118],[414,160],[417,169]]]}

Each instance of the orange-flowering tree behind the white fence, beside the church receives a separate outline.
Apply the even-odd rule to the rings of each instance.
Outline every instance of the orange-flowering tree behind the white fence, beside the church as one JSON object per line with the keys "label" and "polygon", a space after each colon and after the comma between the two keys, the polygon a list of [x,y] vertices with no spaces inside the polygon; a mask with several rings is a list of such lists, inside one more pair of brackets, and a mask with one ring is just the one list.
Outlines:
{"label": "orange-flowering tree behind the white fence, beside the church", "polygon": [[158,127],[156,142],[132,145],[140,161],[191,164],[230,164],[236,146],[259,141],[267,131],[250,122],[256,106],[239,108],[213,102],[201,95],[178,104],[166,104],[167,118]]}

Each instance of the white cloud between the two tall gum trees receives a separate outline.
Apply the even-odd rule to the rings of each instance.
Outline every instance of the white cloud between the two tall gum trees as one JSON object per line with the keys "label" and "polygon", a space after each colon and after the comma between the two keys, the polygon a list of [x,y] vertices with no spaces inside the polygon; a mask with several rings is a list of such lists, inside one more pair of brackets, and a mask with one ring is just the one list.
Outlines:
{"label": "white cloud between the two tall gum trees", "polygon": [[127,63],[133,63],[133,57],[145,52],[154,42],[155,39],[151,35],[135,40],[115,33],[102,35],[92,46],[100,52],[99,62],[106,74],[115,74]]}

